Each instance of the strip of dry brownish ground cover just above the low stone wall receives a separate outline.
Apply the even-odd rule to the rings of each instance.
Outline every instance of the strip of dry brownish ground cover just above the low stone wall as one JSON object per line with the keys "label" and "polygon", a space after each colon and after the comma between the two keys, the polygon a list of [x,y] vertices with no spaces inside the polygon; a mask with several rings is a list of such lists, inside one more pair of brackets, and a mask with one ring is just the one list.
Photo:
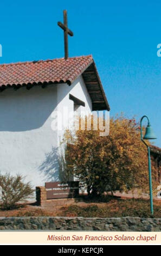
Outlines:
{"label": "strip of dry brownish ground cover just above the low stone wall", "polygon": [[[14,210],[0,210],[1,217],[29,217],[29,216],[67,216],[67,217],[151,217],[149,200],[144,199],[120,199],[116,197],[104,197],[89,200],[84,198],[82,202],[70,205],[46,205],[36,206],[21,204]],[[154,216],[161,218],[161,202],[154,202]]]}

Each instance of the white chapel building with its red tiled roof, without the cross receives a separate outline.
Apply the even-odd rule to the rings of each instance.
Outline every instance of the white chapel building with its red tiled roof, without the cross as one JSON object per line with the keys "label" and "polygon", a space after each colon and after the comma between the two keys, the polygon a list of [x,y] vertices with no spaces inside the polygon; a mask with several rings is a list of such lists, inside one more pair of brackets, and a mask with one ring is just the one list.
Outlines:
{"label": "white chapel building with its red tiled roof, without the cross", "polygon": [[[59,181],[57,113],[110,111],[91,55],[0,65],[0,173]],[[67,120],[68,123],[68,120]]]}

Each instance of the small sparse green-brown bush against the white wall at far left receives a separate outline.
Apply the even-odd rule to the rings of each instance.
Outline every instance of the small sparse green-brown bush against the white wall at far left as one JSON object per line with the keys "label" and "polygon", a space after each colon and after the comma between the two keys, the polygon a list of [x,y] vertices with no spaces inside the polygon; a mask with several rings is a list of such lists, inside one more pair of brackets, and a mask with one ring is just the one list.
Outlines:
{"label": "small sparse green-brown bush against the white wall at far left", "polygon": [[23,183],[23,176],[10,174],[0,175],[0,186],[2,187],[2,208],[13,209],[20,201],[25,201],[33,195],[34,190],[30,182]]}

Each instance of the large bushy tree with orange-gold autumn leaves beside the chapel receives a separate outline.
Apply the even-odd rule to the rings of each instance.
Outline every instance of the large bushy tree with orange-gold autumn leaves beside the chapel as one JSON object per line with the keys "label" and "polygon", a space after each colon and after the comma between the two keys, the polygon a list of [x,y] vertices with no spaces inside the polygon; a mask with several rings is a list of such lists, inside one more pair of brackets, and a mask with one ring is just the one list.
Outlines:
{"label": "large bushy tree with orange-gold autumn leaves beside the chapel", "polygon": [[[67,132],[65,138],[66,173],[78,178],[88,195],[136,187],[149,190],[147,148],[134,118],[111,118],[108,136],[100,136],[99,129],[79,129],[74,136]],[[152,173],[156,173],[153,162]]]}

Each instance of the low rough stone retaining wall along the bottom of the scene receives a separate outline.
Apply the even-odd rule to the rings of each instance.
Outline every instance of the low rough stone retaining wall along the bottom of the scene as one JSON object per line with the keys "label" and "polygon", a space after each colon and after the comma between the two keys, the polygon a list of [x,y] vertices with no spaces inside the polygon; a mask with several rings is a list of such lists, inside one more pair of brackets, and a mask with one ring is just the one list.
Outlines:
{"label": "low rough stone retaining wall along the bottom of the scene", "polygon": [[161,231],[161,218],[1,217],[0,230]]}

